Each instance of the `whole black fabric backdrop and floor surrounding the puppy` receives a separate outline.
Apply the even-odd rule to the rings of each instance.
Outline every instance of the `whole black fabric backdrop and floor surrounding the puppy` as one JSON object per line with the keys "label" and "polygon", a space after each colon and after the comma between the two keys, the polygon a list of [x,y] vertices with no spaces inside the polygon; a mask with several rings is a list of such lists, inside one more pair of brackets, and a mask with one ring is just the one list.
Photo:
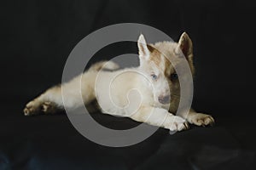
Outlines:
{"label": "whole black fabric backdrop and floor surrounding the puppy", "polygon": [[[1,10],[0,169],[255,169],[255,4],[252,1],[4,1]],[[22,115],[26,102],[61,82],[68,54],[102,26],[137,22],[195,50],[196,111],[214,127],[170,135],[159,129],[140,144],[109,148],[77,132],[65,113]],[[103,48],[93,60],[137,53],[134,43]],[[127,118],[92,114],[113,128]]]}

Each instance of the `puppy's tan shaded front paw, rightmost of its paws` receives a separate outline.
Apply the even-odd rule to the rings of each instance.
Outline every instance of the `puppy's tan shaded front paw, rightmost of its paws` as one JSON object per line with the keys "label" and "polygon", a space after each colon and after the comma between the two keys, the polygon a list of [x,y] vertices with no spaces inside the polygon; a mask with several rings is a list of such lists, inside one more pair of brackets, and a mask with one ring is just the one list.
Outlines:
{"label": "puppy's tan shaded front paw, rightmost of its paws", "polygon": [[197,126],[205,127],[207,125],[213,125],[215,123],[211,115],[196,113],[195,115],[189,118],[189,122]]}

